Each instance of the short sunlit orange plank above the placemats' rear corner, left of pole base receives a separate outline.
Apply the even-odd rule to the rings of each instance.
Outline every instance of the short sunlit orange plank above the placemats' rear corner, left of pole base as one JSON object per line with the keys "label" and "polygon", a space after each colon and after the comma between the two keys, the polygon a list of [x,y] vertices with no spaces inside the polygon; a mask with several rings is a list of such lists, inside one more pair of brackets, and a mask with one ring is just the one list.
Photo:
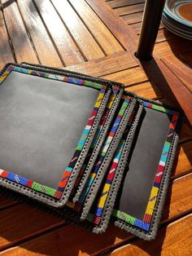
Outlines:
{"label": "short sunlit orange plank above the placemats' rear corner, left of pole base", "polygon": [[120,72],[111,73],[106,76],[102,76],[105,79],[115,81],[115,82],[122,82],[126,86],[132,85],[134,83],[139,82],[147,82],[148,77],[142,71],[142,68],[129,68]]}

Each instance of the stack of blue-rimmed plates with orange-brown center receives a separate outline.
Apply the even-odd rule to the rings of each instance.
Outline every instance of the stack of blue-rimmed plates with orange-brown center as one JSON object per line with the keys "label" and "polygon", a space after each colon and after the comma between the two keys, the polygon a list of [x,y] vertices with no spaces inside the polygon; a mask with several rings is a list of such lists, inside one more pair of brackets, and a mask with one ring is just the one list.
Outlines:
{"label": "stack of blue-rimmed plates with orange-brown center", "polygon": [[162,21],[172,33],[192,40],[192,0],[167,0]]}

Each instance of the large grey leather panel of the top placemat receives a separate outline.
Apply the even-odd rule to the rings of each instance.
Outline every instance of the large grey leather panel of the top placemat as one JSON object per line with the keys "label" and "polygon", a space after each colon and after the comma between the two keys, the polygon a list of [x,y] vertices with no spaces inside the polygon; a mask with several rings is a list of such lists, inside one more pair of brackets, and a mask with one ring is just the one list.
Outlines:
{"label": "large grey leather panel of the top placemat", "polygon": [[11,72],[0,86],[0,168],[57,188],[98,94]]}

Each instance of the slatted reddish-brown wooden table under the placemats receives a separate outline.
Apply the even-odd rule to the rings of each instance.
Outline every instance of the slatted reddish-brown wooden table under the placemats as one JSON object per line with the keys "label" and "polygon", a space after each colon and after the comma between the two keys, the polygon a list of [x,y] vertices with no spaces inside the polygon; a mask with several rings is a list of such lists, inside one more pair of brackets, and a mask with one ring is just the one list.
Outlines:
{"label": "slatted reddish-brown wooden table under the placemats", "polygon": [[112,225],[104,235],[94,235],[0,195],[2,255],[191,255],[192,42],[161,24],[155,59],[139,62],[134,52],[144,0],[0,2],[1,68],[21,61],[67,67],[123,82],[126,90],[179,105],[187,115],[155,241]]}

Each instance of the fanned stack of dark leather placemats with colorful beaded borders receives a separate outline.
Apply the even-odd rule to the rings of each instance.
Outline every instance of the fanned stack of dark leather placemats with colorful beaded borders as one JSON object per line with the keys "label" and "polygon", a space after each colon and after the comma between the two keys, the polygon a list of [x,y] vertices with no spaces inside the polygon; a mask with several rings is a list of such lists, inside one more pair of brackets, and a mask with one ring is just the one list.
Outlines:
{"label": "fanned stack of dark leather placemats with colorful beaded borders", "polygon": [[116,82],[34,64],[7,64],[0,85],[2,187],[96,233],[111,220],[155,237],[180,111]]}

